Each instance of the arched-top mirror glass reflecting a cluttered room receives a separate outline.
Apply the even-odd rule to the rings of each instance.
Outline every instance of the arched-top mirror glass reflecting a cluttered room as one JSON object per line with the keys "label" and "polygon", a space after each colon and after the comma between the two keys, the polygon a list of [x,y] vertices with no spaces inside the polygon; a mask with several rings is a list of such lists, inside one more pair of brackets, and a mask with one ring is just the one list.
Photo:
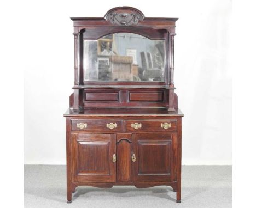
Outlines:
{"label": "arched-top mirror glass reflecting a cluttered room", "polygon": [[163,82],[165,41],[133,33],[84,40],[85,81]]}

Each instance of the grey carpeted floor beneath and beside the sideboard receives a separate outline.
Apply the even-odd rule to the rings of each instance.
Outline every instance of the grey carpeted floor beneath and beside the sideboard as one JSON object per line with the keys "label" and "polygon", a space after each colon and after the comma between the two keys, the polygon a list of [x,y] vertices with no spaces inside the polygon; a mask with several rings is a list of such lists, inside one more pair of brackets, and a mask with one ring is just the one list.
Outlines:
{"label": "grey carpeted floor beneath and beside the sideboard", "polygon": [[183,166],[182,203],[171,187],[81,186],[66,203],[66,166],[24,166],[24,207],[232,207],[232,166]]}

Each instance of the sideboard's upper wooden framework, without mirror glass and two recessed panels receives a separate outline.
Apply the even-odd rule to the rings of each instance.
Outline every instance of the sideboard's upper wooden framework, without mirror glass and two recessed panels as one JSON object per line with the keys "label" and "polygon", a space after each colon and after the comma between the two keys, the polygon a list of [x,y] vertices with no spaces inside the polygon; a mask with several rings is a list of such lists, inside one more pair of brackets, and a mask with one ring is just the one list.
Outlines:
{"label": "sideboard's upper wooden framework, without mirror glass and two recessed panels", "polygon": [[[174,36],[176,21],[178,18],[145,17],[143,13],[132,7],[115,7],[107,11],[104,17],[71,17],[74,28],[74,93],[69,97],[72,111],[80,111],[90,105],[100,106],[98,102],[85,101],[86,90],[120,91],[118,96],[119,106],[129,103],[127,91],[164,91],[165,102],[144,103],[147,107],[166,107],[168,111],[177,109],[178,97],[174,93]],[[98,39],[101,36],[128,32],[143,35],[149,39],[165,40],[165,81],[164,82],[98,82],[84,81],[83,68],[83,39]],[[101,103],[105,106],[113,106],[115,102]],[[84,105],[86,104],[86,105]],[[117,103],[115,103],[117,104]],[[138,104],[139,106],[141,104]]]}

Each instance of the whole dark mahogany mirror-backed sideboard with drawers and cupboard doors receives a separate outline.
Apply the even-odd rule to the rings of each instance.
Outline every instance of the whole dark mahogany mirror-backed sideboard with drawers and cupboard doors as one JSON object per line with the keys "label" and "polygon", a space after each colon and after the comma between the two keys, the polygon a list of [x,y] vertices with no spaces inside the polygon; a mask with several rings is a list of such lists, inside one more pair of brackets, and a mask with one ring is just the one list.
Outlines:
{"label": "whole dark mahogany mirror-backed sideboard with drawers and cupboard doors", "polygon": [[174,93],[177,18],[117,7],[74,22],[66,117],[67,202],[77,186],[171,186],[181,202],[182,112]]}

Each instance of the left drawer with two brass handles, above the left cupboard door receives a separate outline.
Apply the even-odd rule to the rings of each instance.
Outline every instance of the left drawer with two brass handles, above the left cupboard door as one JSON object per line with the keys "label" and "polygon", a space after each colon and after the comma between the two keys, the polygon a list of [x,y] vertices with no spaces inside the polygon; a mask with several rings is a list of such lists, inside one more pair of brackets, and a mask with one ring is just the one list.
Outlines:
{"label": "left drawer with two brass handles, above the left cupboard door", "polygon": [[123,131],[123,120],[71,120],[71,131]]}

